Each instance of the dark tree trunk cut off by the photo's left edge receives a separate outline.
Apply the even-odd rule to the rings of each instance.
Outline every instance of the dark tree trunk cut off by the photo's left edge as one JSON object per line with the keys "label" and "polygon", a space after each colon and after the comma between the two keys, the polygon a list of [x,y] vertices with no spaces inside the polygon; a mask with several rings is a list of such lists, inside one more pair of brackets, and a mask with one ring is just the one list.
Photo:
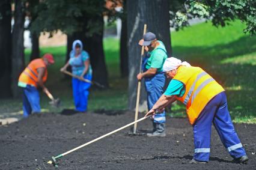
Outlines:
{"label": "dark tree trunk cut off by the photo's left edge", "polygon": [[11,96],[11,2],[0,2],[0,98]]}

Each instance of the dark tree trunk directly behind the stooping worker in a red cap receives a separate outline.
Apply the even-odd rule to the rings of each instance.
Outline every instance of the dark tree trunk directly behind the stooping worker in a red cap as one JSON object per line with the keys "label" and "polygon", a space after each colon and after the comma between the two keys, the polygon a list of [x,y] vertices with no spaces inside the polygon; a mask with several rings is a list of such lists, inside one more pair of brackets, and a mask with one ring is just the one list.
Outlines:
{"label": "dark tree trunk directly behind the stooping worker in a red cap", "polygon": [[15,1],[15,11],[14,11],[14,27],[13,27],[13,37],[12,37],[12,54],[11,54],[11,90],[13,92],[13,97],[20,96],[19,87],[17,87],[17,82],[19,75],[24,68],[24,20],[25,20],[25,4],[23,1]]}

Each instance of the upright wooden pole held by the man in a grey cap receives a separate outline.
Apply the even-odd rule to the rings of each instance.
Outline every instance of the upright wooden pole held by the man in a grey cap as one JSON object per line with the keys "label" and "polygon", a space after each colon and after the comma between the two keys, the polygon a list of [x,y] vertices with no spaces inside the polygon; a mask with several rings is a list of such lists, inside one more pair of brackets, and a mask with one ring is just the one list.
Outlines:
{"label": "upright wooden pole held by the man in a grey cap", "polygon": [[[147,24],[144,24],[144,31],[143,35],[146,33]],[[141,64],[142,64],[142,57],[144,55],[144,46],[141,47],[141,62],[139,65],[139,73],[142,72]],[[138,120],[138,113],[139,113],[139,97],[141,96],[141,80],[138,81],[138,89],[137,89],[137,99],[136,99],[136,108],[135,108],[135,118],[134,121]],[[136,133],[137,130],[137,123],[134,124],[133,133]]]}

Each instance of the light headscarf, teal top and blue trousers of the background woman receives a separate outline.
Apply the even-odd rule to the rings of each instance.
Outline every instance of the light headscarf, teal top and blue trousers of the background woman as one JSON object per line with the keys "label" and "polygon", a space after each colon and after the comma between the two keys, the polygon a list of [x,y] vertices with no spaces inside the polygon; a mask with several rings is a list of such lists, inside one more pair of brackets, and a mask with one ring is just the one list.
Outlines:
{"label": "light headscarf, teal top and blue trousers of the background woman", "polygon": [[[87,59],[90,59],[90,56],[85,50],[82,50],[80,55],[75,56],[75,46],[77,43],[80,44],[81,50],[83,49],[83,44],[80,40],[75,40],[73,42],[73,50],[70,52],[69,64],[72,66],[72,73],[76,76],[81,76],[85,69],[84,62],[87,61]],[[93,71],[90,65],[84,78],[91,80],[93,78],[92,73]],[[87,102],[89,96],[88,90],[90,87],[90,83],[83,82],[82,80],[76,79],[74,77],[72,78],[73,97],[77,111],[87,111]]]}

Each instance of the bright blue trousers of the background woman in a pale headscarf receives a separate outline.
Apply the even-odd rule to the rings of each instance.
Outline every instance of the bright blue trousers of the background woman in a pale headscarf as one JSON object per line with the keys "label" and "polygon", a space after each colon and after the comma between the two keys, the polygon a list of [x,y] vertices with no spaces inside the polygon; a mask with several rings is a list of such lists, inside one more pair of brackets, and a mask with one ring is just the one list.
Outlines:
{"label": "bright blue trousers of the background woman in a pale headscarf", "polygon": [[[91,80],[92,76],[85,74],[85,79]],[[83,82],[79,79],[72,78],[72,88],[73,88],[73,97],[74,103],[76,106],[76,111],[85,112],[87,111],[87,102],[89,96],[89,88],[91,87],[90,83]]]}

